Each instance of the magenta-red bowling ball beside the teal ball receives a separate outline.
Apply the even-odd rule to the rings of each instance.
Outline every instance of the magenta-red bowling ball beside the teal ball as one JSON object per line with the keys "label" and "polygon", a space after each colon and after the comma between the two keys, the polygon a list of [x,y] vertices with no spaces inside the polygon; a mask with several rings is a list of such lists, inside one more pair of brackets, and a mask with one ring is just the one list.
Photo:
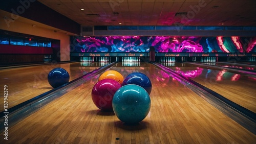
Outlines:
{"label": "magenta-red bowling ball beside the teal ball", "polygon": [[93,103],[103,111],[113,111],[112,99],[121,84],[113,79],[98,81],[92,89]]}

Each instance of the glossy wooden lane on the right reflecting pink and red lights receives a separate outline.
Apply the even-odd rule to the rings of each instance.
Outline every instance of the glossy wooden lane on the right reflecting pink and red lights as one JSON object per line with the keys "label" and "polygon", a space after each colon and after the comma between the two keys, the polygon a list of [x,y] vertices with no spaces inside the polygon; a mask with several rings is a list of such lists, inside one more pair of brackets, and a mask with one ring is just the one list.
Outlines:
{"label": "glossy wooden lane on the right reflecting pink and red lights", "polygon": [[213,70],[192,64],[176,63],[169,67],[177,73],[216,91],[230,101],[252,112],[256,112],[256,79],[245,75],[230,73],[226,70]]}

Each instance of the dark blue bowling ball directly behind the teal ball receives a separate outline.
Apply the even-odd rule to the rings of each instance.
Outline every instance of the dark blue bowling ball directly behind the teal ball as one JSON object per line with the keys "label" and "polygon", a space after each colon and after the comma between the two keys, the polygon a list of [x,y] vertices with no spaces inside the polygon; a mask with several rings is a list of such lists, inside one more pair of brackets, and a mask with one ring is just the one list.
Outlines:
{"label": "dark blue bowling ball directly behind the teal ball", "polygon": [[148,78],[145,74],[142,74],[139,72],[131,73],[127,75],[123,80],[122,86],[127,84],[139,85],[143,87],[148,94],[150,94],[152,90],[152,84],[151,84],[150,78]]}

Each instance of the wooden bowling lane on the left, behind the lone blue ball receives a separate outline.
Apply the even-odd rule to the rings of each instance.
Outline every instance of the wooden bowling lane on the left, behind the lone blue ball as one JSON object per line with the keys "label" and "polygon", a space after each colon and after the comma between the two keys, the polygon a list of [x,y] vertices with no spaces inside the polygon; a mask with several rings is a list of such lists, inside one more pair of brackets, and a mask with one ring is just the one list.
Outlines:
{"label": "wooden bowling lane on the left, behind the lone blue ball", "polygon": [[[98,65],[98,63],[92,64]],[[99,66],[88,67],[86,63],[76,62],[2,69],[0,70],[0,83],[3,88],[1,88],[0,93],[4,93],[4,85],[7,85],[8,108],[53,89],[48,83],[47,76],[56,67],[66,69],[70,74],[70,81],[72,81]],[[0,97],[0,105],[0,111],[3,111],[4,97]]]}

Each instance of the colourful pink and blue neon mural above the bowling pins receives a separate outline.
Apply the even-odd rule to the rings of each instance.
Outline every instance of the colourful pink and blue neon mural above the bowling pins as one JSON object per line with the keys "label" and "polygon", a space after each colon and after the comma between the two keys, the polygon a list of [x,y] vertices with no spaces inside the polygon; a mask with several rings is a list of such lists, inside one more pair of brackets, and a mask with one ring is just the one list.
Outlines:
{"label": "colourful pink and blue neon mural above the bowling pins", "polygon": [[75,52],[256,53],[256,37],[101,36],[73,37]]}

